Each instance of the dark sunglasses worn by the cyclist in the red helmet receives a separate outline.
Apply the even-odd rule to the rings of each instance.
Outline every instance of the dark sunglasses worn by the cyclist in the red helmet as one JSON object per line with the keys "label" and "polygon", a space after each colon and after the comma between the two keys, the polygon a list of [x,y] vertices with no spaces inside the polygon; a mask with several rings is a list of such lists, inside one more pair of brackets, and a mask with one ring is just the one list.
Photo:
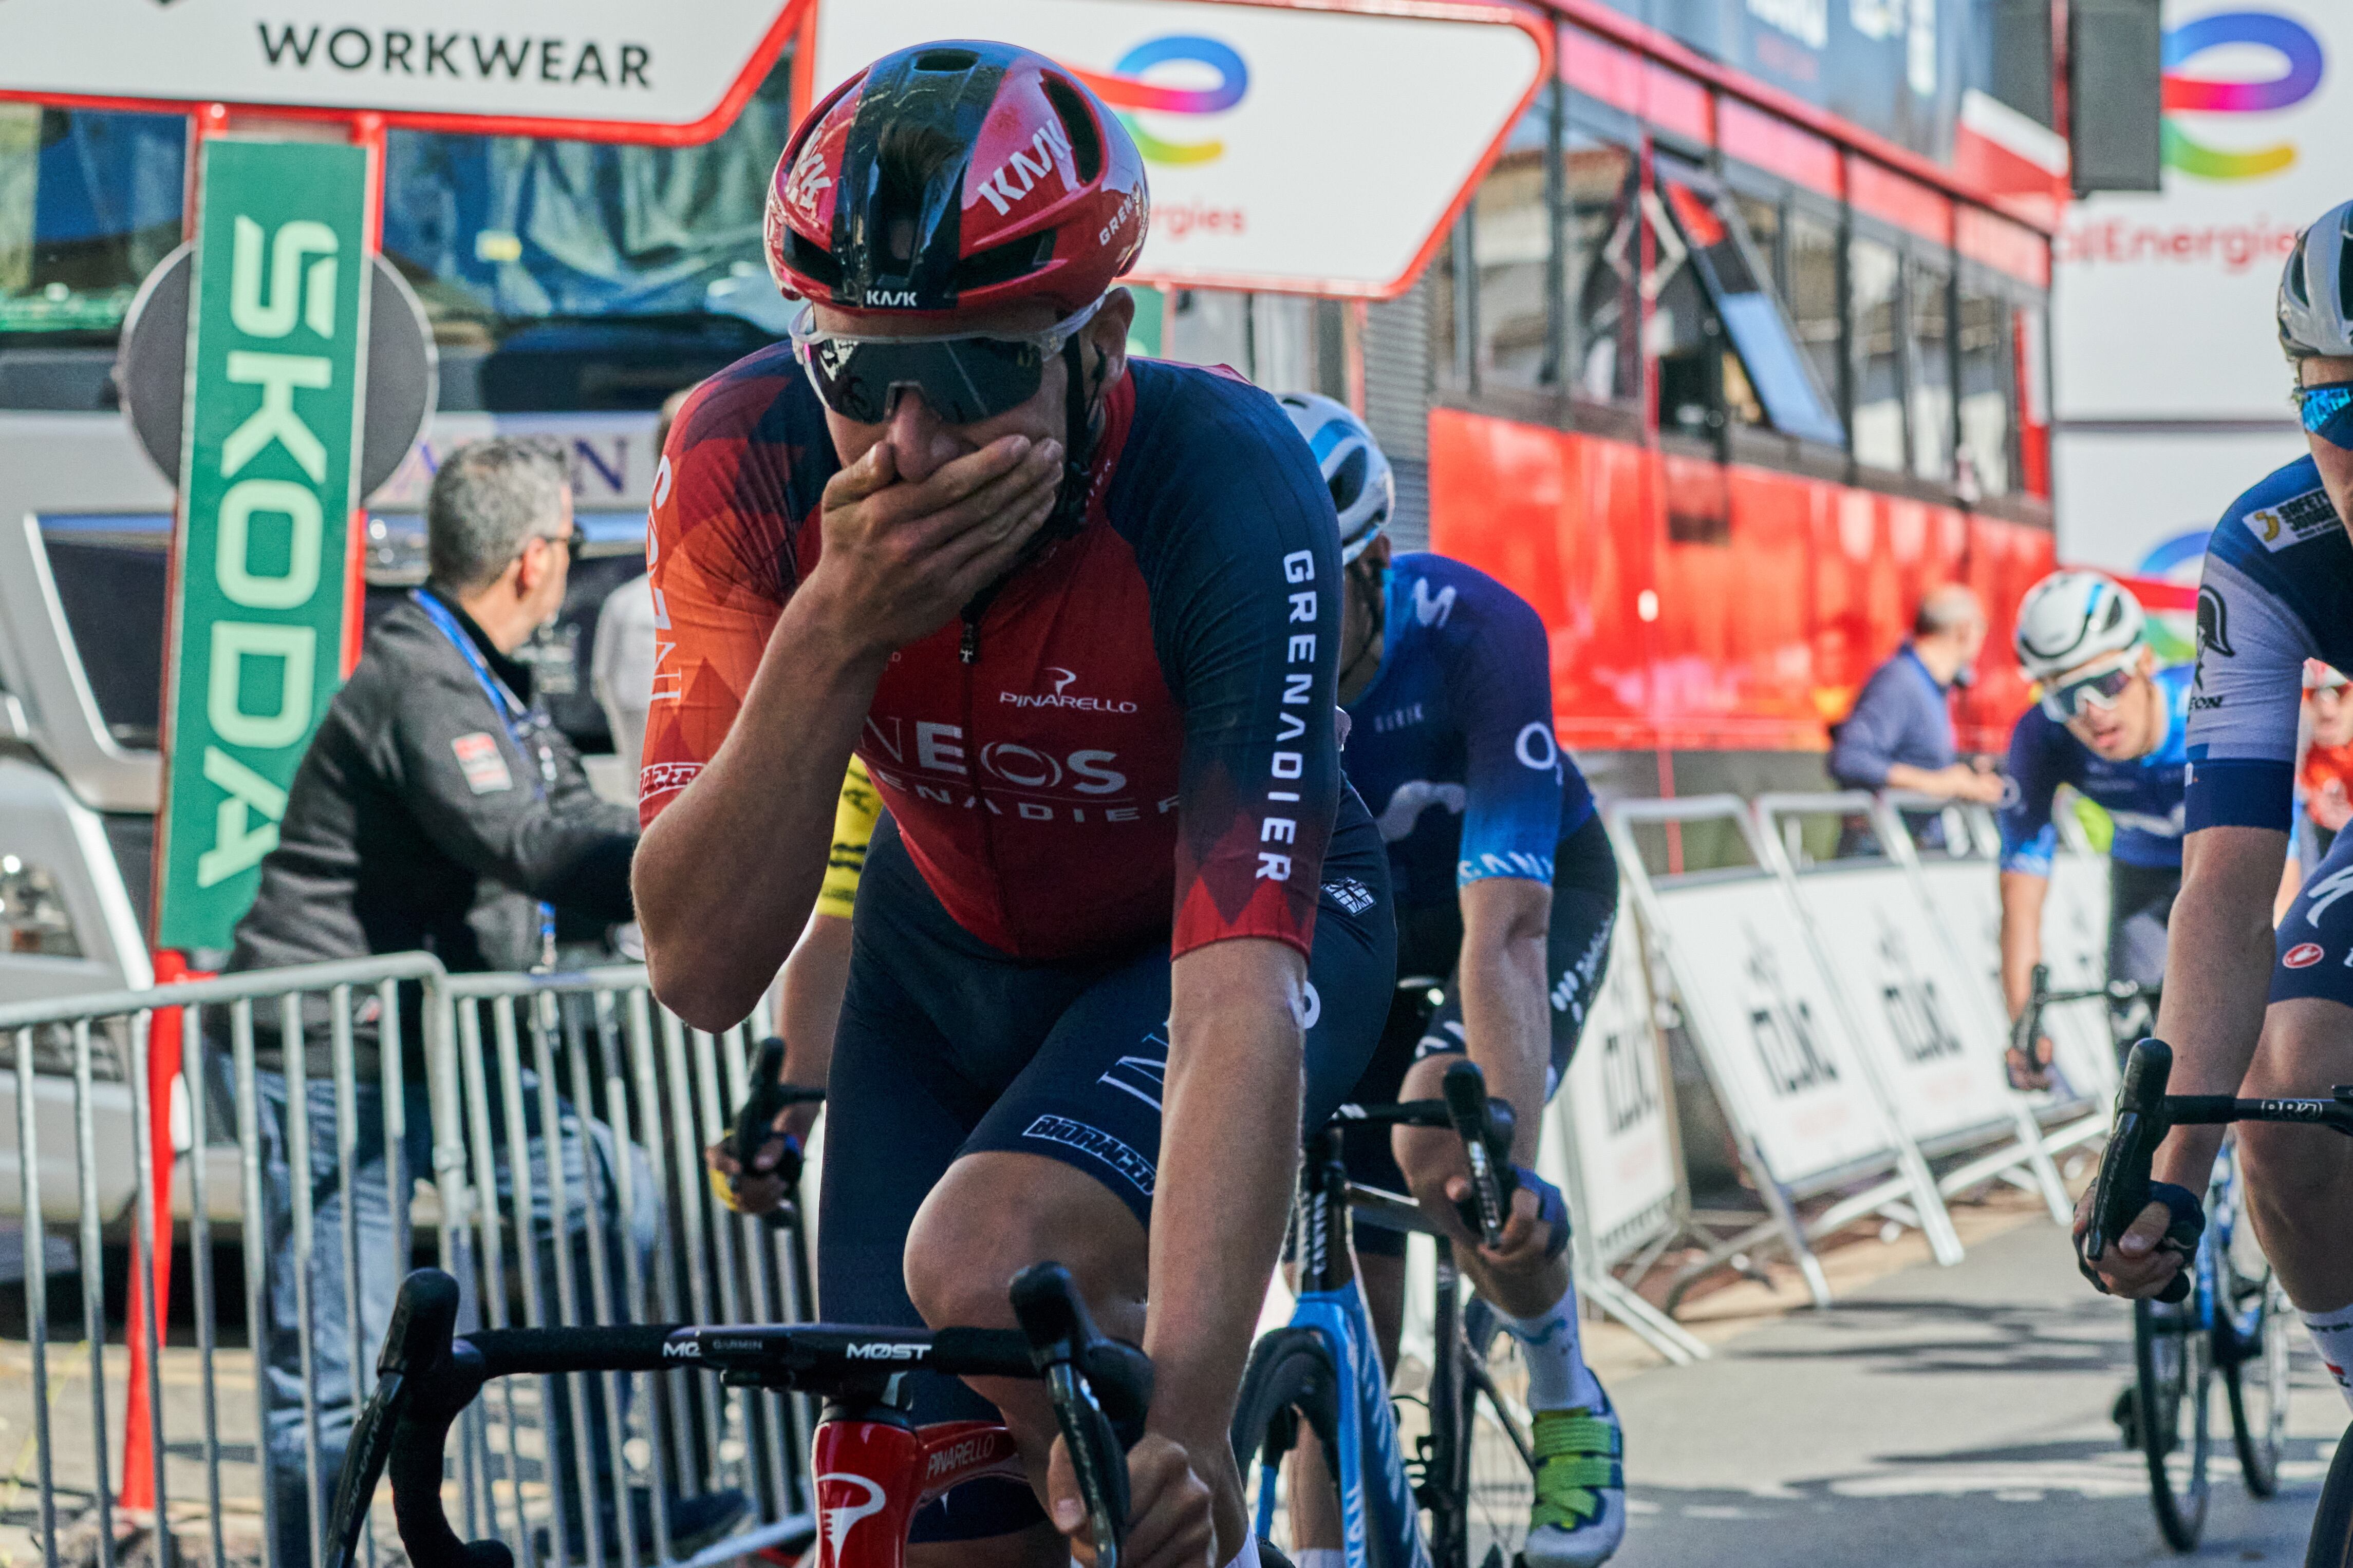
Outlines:
{"label": "dark sunglasses worn by the cyclist in the red helmet", "polygon": [[819,331],[816,308],[793,322],[793,353],[828,409],[861,425],[889,418],[901,388],[915,388],[951,425],[974,425],[1038,395],[1045,364],[1094,317],[1104,301],[1033,336],[955,334],[868,339]]}

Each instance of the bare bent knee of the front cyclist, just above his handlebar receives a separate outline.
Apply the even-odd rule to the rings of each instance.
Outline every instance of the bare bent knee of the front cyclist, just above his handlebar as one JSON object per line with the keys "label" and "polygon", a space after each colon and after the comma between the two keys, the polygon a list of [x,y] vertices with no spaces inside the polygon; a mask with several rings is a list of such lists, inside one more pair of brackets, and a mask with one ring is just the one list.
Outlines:
{"label": "bare bent knee of the front cyclist, just above his handlebar", "polygon": [[1071,1269],[1104,1333],[1144,1335],[1144,1227],[1106,1187],[1038,1154],[948,1166],[908,1227],[908,1300],[934,1328],[1009,1328],[1007,1281],[1047,1258]]}

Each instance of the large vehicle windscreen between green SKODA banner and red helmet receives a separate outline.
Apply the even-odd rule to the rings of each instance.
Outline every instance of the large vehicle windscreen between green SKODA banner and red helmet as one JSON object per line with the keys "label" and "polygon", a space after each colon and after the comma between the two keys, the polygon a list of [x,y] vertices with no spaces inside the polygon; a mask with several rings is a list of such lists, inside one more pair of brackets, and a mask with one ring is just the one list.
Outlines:
{"label": "large vehicle windscreen between green SKODA banner and red helmet", "polygon": [[442,341],[551,317],[711,315],[776,336],[786,303],[760,221],[791,132],[791,56],[706,146],[393,132],[384,252]]}

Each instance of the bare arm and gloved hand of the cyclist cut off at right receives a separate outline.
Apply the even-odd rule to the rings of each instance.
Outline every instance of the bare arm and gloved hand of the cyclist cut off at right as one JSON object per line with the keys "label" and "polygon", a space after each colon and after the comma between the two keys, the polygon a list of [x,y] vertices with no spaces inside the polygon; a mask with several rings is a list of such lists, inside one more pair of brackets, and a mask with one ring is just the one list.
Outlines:
{"label": "bare arm and gloved hand of the cyclist cut off at right", "polygon": [[[2231,1095],[2247,1077],[2271,997],[2271,893],[2285,856],[2287,835],[2271,827],[2200,827],[2181,839],[2181,896],[2158,1001],[2158,1037],[2174,1048],[2169,1093]],[[2221,1133],[2177,1126],[2158,1150],[2155,1180],[2205,1192]],[[2155,1251],[2165,1225],[2165,1206],[2151,1204],[2108,1248],[2097,1267],[2111,1291],[2155,1295],[2174,1276],[2181,1258]]]}

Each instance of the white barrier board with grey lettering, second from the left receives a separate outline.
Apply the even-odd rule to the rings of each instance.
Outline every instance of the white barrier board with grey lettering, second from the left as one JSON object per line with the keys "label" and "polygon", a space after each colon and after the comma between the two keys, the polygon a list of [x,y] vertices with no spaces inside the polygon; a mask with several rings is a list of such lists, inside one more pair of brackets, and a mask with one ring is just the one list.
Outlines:
{"label": "white barrier board with grey lettering, second from the left", "polygon": [[1892,1128],[1788,893],[1755,877],[1666,886],[1657,903],[1708,1077],[1774,1180],[1798,1187],[1892,1154]]}

